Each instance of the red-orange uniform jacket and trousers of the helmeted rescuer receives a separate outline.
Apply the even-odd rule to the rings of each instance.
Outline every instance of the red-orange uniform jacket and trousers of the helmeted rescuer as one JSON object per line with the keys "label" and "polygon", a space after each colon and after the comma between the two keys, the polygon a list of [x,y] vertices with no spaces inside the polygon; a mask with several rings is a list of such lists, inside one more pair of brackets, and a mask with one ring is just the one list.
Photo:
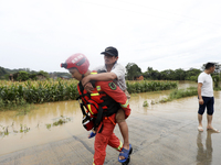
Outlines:
{"label": "red-orange uniform jacket and trousers of the helmeted rescuer", "polygon": [[[93,94],[96,92],[105,92],[106,95],[108,95],[120,105],[122,109],[125,111],[125,119],[129,117],[130,108],[127,97],[124,91],[113,81],[96,81],[95,90],[93,91]],[[91,99],[93,99],[93,94],[91,95]],[[104,164],[107,144],[116,148],[118,152],[120,152],[123,148],[123,143],[114,133],[114,128],[116,125],[115,116],[116,113],[112,114],[110,117],[104,117],[103,121],[97,128],[97,133],[94,142],[95,153],[93,165]],[[99,133],[101,129],[102,131]]]}

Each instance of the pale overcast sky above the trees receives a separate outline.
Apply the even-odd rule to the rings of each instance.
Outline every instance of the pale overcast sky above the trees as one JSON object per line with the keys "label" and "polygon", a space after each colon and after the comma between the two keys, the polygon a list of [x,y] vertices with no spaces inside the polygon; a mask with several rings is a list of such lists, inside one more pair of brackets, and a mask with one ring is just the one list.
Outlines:
{"label": "pale overcast sky above the trees", "polygon": [[65,72],[85,54],[90,68],[115,46],[143,72],[221,63],[220,0],[0,0],[0,66]]}

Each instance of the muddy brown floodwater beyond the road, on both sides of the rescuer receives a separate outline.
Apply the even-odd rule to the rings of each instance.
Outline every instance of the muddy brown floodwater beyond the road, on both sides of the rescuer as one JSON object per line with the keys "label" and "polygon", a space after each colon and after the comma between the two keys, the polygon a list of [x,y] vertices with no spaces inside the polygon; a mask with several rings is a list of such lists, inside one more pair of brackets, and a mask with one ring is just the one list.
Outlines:
{"label": "muddy brown floodwater beyond the road, on both sides of the rescuer", "polygon": [[[179,88],[197,86],[197,84],[180,82]],[[136,114],[152,114],[167,111],[172,113],[175,110],[180,111],[183,116],[188,111],[198,108],[197,97],[183,98],[167,103],[157,103],[161,98],[166,97],[170,91],[157,91],[131,95],[130,107],[131,116]],[[220,107],[221,94],[215,92],[215,106]],[[148,107],[143,107],[147,100]],[[181,109],[186,109],[183,112]],[[0,155],[8,154],[14,151],[54,142],[71,138],[72,135],[82,134],[85,132],[81,124],[82,113],[77,101],[62,101],[36,106],[27,116],[17,116],[18,112],[6,111],[0,112]],[[196,120],[196,117],[191,117]],[[62,125],[53,127],[53,123],[60,119],[69,119]],[[51,124],[49,128],[46,125]],[[9,134],[2,132],[8,127]],[[23,130],[24,132],[20,132]],[[25,132],[27,130],[27,132]]]}

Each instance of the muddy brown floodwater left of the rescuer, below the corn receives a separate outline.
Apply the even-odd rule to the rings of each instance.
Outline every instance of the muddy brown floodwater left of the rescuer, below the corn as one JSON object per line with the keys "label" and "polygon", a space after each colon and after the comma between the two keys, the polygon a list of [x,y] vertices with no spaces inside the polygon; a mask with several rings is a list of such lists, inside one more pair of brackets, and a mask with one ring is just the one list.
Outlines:
{"label": "muddy brown floodwater left of the rescuer, below the corn", "polygon": [[[17,116],[17,113],[0,112],[0,132],[6,132],[6,127],[9,131],[8,135],[3,133],[0,135],[0,155],[66,139],[85,131],[81,125],[82,114],[77,101],[44,103],[36,106],[36,109],[27,116]],[[67,122],[64,124],[53,125],[60,119],[69,120],[65,120]],[[50,124],[51,128],[46,127]]]}

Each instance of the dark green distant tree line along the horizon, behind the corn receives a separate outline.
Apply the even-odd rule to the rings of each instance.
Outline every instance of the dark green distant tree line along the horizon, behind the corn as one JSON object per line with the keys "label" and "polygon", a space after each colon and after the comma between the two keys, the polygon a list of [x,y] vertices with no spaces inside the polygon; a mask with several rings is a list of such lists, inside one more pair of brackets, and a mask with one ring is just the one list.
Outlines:
{"label": "dark green distant tree line along the horizon, behind the corn", "polygon": [[[137,77],[143,76],[146,80],[192,80],[197,81],[199,74],[204,69],[204,64],[201,69],[190,68],[185,70],[182,68],[178,69],[165,69],[162,72],[158,72],[152,67],[147,67],[145,73],[141,72],[140,67],[135,63],[128,63],[126,65],[126,79],[135,80]],[[213,78],[220,79],[221,65],[215,63],[215,72],[212,74]],[[38,79],[38,76],[43,76],[45,78],[55,78],[55,77],[65,77],[71,78],[69,73],[46,73],[43,70],[34,72],[29,68],[20,68],[20,69],[8,69],[0,66],[0,79],[10,79],[10,75],[14,75],[13,80],[28,80],[28,79]],[[218,75],[219,74],[219,75]]]}

